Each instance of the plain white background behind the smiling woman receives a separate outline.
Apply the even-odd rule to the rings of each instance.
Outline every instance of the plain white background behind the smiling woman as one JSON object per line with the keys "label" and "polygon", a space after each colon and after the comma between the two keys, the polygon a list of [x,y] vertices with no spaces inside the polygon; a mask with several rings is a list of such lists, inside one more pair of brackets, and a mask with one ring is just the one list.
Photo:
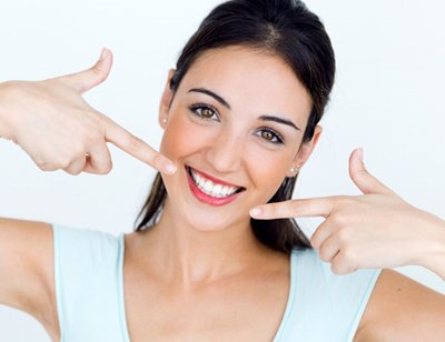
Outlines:
{"label": "plain white background behind the smiling woman", "polygon": [[[38,80],[88,68],[103,46],[115,52],[108,81],[86,98],[158,148],[158,99],[178,53],[219,1],[0,2],[0,81]],[[368,169],[412,204],[445,218],[445,22],[443,1],[307,0],[337,57],[324,137],[303,169],[296,197],[357,194],[347,172],[355,147]],[[155,172],[110,147],[107,177],[44,173],[0,141],[0,215],[130,232]],[[303,222],[313,230],[315,220]],[[422,238],[422,237],[419,237]],[[442,293],[421,268],[400,270]],[[0,308],[0,340],[49,341],[31,316]]]}

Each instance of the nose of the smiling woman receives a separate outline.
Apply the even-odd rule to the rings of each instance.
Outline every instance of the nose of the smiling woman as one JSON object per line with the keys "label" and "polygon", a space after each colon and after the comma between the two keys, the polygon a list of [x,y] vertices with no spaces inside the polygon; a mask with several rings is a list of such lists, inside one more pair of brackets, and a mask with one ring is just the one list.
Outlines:
{"label": "nose of the smiling woman", "polygon": [[207,150],[207,161],[220,173],[238,171],[243,165],[244,143],[239,135],[222,130]]}

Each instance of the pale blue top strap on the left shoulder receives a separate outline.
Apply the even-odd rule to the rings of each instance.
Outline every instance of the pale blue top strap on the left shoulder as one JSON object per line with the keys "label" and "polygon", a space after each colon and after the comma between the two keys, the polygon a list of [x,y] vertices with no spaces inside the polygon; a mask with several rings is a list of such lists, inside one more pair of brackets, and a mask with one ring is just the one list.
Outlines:
{"label": "pale blue top strap on the left shoulder", "polygon": [[61,342],[126,342],[121,239],[89,229],[52,228]]}

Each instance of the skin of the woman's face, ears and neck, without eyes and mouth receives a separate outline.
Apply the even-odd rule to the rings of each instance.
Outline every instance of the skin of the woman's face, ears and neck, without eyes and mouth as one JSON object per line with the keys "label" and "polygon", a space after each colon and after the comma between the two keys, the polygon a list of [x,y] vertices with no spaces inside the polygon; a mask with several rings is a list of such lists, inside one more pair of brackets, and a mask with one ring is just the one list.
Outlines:
{"label": "skin of the woman's face, ears and neck, without eyes and mouth", "polygon": [[[231,109],[207,94],[189,92],[196,88],[211,89]],[[238,264],[258,253],[249,209],[267,202],[285,175],[290,175],[289,169],[304,164],[320,130],[317,129],[313,141],[301,145],[303,131],[258,120],[261,114],[279,113],[304,128],[310,99],[280,59],[246,49],[205,53],[190,68],[169,107],[171,97],[166,87],[159,118],[165,129],[160,152],[179,171],[164,175],[169,195],[157,229],[164,238],[154,244],[165,251],[162,261],[177,255],[172,270],[207,276],[218,266]],[[189,109],[195,103],[214,107],[214,120],[196,117]],[[167,124],[162,122],[166,118]],[[259,129],[265,125],[280,132],[286,143],[277,145],[261,138]],[[219,208],[199,202],[188,188],[185,164],[247,190],[236,201]],[[171,250],[166,250],[166,244]]]}

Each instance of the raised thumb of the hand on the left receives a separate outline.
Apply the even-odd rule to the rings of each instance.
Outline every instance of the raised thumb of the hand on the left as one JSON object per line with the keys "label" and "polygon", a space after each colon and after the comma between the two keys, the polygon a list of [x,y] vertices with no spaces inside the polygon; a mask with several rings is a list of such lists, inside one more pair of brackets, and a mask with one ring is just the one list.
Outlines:
{"label": "raised thumb of the hand on the left", "polygon": [[99,60],[90,69],[63,76],[59,80],[79,93],[85,93],[107,79],[111,66],[112,53],[107,48],[103,48]]}

